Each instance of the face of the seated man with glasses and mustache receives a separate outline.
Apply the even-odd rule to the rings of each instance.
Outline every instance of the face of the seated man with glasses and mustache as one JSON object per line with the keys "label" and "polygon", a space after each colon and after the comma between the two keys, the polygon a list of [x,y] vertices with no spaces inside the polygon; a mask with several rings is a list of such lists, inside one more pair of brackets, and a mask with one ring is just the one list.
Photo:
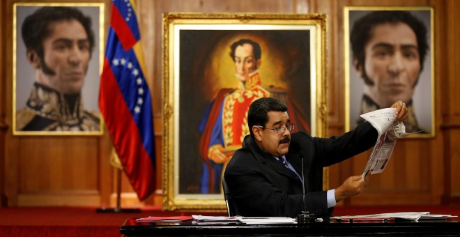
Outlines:
{"label": "face of the seated man with glasses and mustache", "polygon": [[[286,127],[289,124],[289,116],[287,112],[268,112],[268,122],[266,128],[279,128]],[[284,133],[277,133],[275,130],[262,129],[254,126],[254,137],[263,151],[268,152],[270,155],[280,157],[286,155],[289,151],[289,144],[291,143],[291,132],[285,130]]]}

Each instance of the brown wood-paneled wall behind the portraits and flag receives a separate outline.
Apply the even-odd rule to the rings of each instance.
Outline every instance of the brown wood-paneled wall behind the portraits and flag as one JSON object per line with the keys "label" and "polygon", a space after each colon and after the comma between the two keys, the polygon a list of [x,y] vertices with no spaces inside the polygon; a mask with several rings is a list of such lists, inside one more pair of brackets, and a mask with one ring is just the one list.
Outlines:
{"label": "brown wood-paneled wall behind the portraits and flag", "polygon": [[[109,6],[109,0],[101,0]],[[87,1],[85,1],[87,2]],[[433,6],[435,16],[436,137],[404,139],[397,143],[383,174],[371,177],[362,194],[339,205],[460,204],[460,8],[456,0],[137,0],[144,47],[146,78],[153,94],[157,184],[161,185],[162,140],[162,13],[251,12],[325,13],[328,29],[328,135],[344,132],[344,6]],[[116,172],[109,165],[112,143],[102,137],[13,137],[12,104],[12,4],[0,3],[0,194],[10,206],[114,205]],[[109,9],[106,9],[106,29]],[[6,131],[5,131],[6,130]],[[4,143],[3,143],[4,141]],[[3,146],[4,145],[4,146]],[[330,167],[330,187],[360,174],[369,152]],[[4,178],[4,181],[3,181]],[[159,205],[161,190],[139,202],[123,177],[127,206]],[[3,201],[3,205],[5,201]]]}

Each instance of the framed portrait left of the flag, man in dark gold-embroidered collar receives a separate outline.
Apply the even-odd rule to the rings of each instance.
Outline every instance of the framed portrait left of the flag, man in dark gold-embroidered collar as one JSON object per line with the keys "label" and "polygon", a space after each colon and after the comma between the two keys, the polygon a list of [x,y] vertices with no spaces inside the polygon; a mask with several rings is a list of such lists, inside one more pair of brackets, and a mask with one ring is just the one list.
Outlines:
{"label": "framed portrait left of the flag, man in dark gold-embroidered collar", "polygon": [[13,3],[13,135],[102,135],[104,15],[104,3]]}

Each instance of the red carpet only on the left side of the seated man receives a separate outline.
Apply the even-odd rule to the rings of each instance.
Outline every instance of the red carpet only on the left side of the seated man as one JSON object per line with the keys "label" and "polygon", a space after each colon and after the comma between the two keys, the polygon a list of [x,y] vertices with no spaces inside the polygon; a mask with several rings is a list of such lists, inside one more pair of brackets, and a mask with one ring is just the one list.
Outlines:
{"label": "red carpet only on the left side of the seated man", "polygon": [[[121,236],[128,218],[197,213],[163,212],[160,207],[140,213],[96,213],[97,207],[8,207],[0,208],[0,236]],[[227,215],[227,213],[198,213]]]}

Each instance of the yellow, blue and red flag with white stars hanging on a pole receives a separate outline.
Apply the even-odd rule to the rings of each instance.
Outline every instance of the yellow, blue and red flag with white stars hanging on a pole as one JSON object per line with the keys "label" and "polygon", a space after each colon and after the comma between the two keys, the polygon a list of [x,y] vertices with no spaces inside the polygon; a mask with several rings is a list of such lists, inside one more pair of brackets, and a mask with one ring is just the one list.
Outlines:
{"label": "yellow, blue and red flag with white stars hanging on a pole", "polygon": [[155,190],[151,93],[134,1],[112,0],[99,107],[123,170],[140,200]]}

